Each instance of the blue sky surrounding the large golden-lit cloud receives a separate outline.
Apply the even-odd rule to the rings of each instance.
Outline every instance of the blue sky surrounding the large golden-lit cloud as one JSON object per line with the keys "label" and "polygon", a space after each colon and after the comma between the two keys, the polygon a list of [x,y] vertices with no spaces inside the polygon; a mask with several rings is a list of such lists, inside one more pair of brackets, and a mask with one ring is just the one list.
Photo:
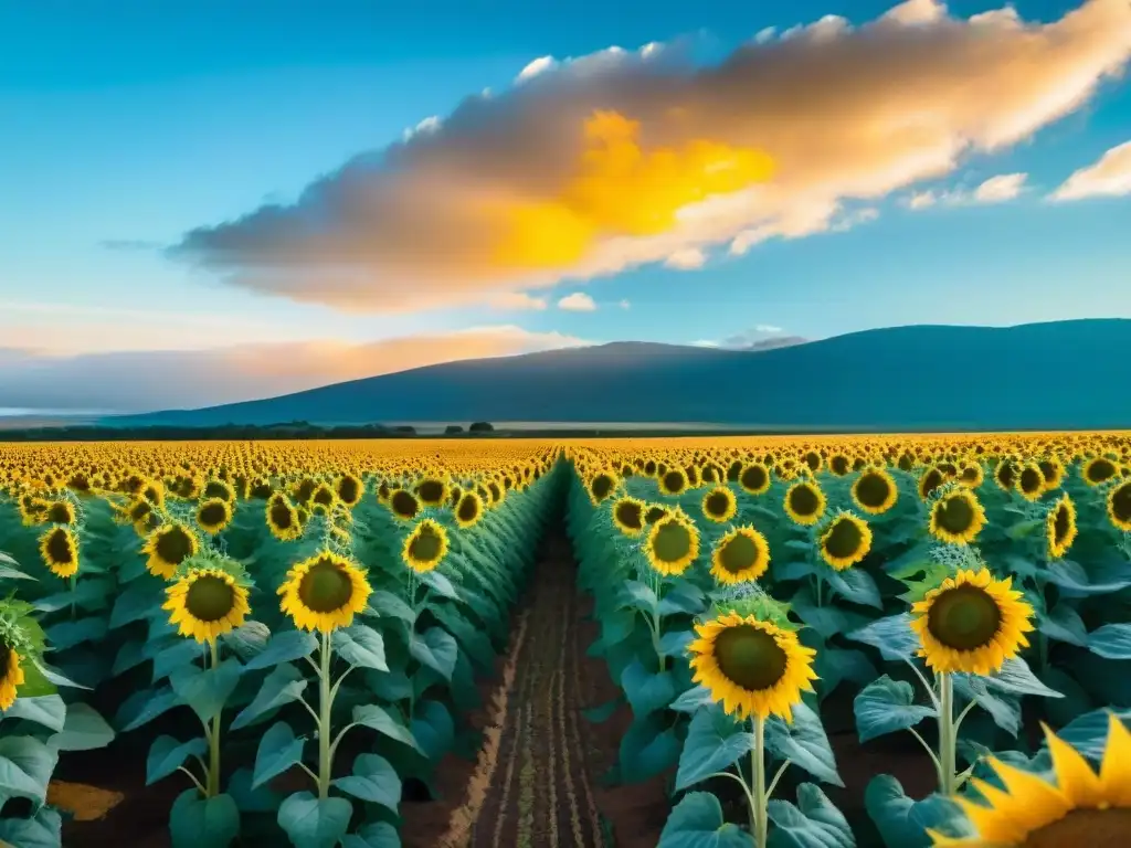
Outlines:
{"label": "blue sky surrounding the large golden-lit cloud", "polygon": [[[319,175],[399,141],[422,119],[442,122],[485,88],[506,94],[539,57],[685,38],[701,67],[766,27],[826,15],[862,25],[892,5],[630,0],[613,10],[594,0],[326,0],[316,11],[280,0],[0,0],[0,348],[19,352],[9,351],[15,364],[0,355],[0,407],[27,403],[23,388],[19,403],[3,403],[5,369],[25,370],[7,390],[15,397],[11,387],[26,388],[27,369],[43,367],[44,356],[370,344],[491,327],[510,328],[498,351],[509,353],[558,339],[719,340],[756,326],[821,338],[906,323],[1131,317],[1131,251],[1120,246],[1131,205],[1122,183],[1111,189],[1108,175],[1106,190],[1086,192],[1106,196],[1047,200],[1070,174],[1131,141],[1131,86],[1122,79],[1103,81],[1085,103],[1036,121],[999,150],[975,145],[935,179],[849,199],[839,218],[802,236],[769,237],[743,256],[731,256],[725,242],[705,244],[706,261],[692,270],[650,261],[596,278],[564,271],[552,287],[527,289],[546,298],[542,310],[467,298],[394,314],[343,311],[318,297],[295,302],[269,286],[233,285],[231,267],[192,266],[161,250],[265,202],[294,204]],[[1036,24],[1077,6],[1020,2],[1017,11]],[[949,11],[966,18],[993,8],[960,2]],[[1122,67],[1124,36],[1085,46],[1107,50],[1108,64]],[[962,120],[961,132],[977,135]],[[1026,174],[1016,197],[973,199],[978,184],[1002,174]],[[929,190],[936,202],[908,208]],[[858,209],[867,215],[838,226]],[[412,275],[398,285],[411,288]],[[575,292],[596,309],[554,306]]]}

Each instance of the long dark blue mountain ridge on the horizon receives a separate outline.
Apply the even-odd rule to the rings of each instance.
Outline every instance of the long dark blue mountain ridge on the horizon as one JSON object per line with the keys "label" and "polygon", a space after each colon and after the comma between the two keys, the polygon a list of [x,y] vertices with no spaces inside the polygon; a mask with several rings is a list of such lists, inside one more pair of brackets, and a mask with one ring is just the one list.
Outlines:
{"label": "long dark blue mountain ridge on the horizon", "polygon": [[470,360],[104,423],[685,422],[846,430],[1131,429],[1131,320],[913,326],[734,351],[618,341]]}

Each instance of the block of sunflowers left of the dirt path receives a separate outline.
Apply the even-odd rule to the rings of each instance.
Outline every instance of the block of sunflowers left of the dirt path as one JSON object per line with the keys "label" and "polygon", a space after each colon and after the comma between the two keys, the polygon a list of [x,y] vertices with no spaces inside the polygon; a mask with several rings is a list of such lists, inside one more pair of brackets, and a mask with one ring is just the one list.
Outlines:
{"label": "block of sunflowers left of the dirt path", "polygon": [[154,727],[174,846],[399,845],[403,784],[475,744],[559,455],[0,445],[0,845],[62,845],[68,752]]}

